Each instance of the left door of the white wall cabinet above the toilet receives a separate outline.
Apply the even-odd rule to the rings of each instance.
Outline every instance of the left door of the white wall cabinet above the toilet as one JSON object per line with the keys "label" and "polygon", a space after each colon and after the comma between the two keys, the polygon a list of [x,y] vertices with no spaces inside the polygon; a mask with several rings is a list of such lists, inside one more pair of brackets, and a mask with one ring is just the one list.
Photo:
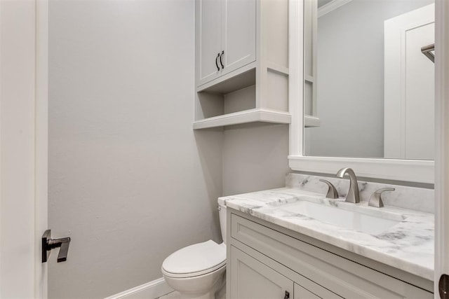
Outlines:
{"label": "left door of the white wall cabinet above the toilet", "polygon": [[196,85],[221,75],[222,1],[196,0]]}

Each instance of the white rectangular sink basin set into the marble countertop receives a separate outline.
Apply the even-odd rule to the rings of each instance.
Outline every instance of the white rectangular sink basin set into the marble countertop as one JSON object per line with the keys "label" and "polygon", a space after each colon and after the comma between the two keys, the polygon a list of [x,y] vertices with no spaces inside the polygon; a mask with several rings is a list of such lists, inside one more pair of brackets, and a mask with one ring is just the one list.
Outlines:
{"label": "white rectangular sink basin set into the marble countertop", "polygon": [[[339,204],[349,205],[349,204]],[[366,232],[371,235],[378,235],[394,225],[403,221],[401,214],[392,212],[382,212],[370,207],[330,207],[325,204],[300,200],[290,204],[285,204],[281,209],[290,213],[302,214],[314,218],[323,223],[340,226]]]}

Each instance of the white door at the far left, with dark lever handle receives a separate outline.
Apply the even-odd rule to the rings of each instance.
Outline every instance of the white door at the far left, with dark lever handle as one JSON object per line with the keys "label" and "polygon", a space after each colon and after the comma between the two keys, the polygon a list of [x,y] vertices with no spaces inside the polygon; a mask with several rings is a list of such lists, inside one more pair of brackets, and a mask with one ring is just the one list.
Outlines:
{"label": "white door at the far left, with dark lever handle", "polygon": [[0,298],[46,298],[47,2],[0,1]]}

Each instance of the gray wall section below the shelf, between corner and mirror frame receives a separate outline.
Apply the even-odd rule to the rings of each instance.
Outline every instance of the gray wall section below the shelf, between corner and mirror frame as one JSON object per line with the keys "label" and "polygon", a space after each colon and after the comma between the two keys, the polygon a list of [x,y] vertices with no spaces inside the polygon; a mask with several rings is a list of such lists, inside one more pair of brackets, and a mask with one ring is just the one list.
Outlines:
{"label": "gray wall section below the shelf, between corner and mirror frame", "polygon": [[285,186],[288,125],[229,127],[224,132],[223,195]]}

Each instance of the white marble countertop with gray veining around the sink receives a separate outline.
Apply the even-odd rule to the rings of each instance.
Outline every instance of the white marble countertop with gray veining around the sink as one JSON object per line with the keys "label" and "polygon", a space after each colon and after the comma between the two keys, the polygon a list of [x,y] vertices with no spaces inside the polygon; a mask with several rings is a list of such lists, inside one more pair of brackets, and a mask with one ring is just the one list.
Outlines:
{"label": "white marble countertop with gray veining around the sink", "polygon": [[[351,230],[289,211],[287,204],[301,200],[366,211],[373,216],[399,216],[400,222],[377,234]],[[344,202],[344,198],[331,200],[319,193],[295,188],[220,197],[218,202],[419,277],[434,279],[434,214],[387,206],[368,207],[367,202],[353,204]]]}

